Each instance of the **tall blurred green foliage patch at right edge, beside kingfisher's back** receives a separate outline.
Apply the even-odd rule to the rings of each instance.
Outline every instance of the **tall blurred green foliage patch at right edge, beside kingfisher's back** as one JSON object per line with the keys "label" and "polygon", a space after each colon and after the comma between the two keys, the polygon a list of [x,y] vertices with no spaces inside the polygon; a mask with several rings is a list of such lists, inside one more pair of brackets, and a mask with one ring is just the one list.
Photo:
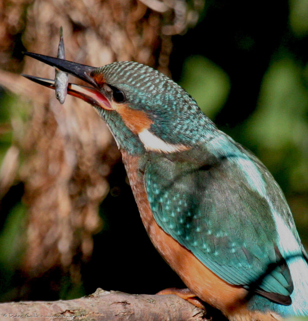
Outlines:
{"label": "tall blurred green foliage patch at right edge, beside kingfisher's back", "polygon": [[307,111],[303,70],[289,57],[274,59],[264,75],[257,108],[248,119],[247,134],[267,166],[274,168],[285,155],[289,157],[287,190],[296,193],[308,190]]}

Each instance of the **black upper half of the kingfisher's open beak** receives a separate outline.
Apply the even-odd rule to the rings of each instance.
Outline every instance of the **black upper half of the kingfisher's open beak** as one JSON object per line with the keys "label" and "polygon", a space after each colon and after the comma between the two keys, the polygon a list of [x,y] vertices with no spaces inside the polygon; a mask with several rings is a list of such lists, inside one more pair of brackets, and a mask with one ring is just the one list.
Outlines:
{"label": "black upper half of the kingfisher's open beak", "polygon": [[32,57],[34,59],[40,60],[50,66],[56,67],[68,74],[71,74],[73,76],[76,76],[84,80],[85,82],[88,82],[94,87],[97,87],[96,82],[94,81],[93,77],[91,77],[91,72],[97,69],[95,67],[78,64],[76,62],[68,61],[64,59],[35,54],[32,52],[24,52],[23,54],[26,56]]}

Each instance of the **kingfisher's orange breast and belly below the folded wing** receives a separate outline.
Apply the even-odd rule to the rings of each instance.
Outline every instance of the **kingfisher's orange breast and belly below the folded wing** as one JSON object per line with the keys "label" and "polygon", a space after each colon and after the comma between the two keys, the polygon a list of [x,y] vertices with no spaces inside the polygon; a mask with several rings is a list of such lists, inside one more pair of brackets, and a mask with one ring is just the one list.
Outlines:
{"label": "kingfisher's orange breast and belly below the folded wing", "polygon": [[138,170],[138,158],[125,152],[122,152],[122,158],[145,229],[160,255],[186,286],[204,302],[221,310],[230,320],[280,320],[270,312],[249,311],[245,302],[247,290],[223,281],[159,227],[149,206],[143,176]]}

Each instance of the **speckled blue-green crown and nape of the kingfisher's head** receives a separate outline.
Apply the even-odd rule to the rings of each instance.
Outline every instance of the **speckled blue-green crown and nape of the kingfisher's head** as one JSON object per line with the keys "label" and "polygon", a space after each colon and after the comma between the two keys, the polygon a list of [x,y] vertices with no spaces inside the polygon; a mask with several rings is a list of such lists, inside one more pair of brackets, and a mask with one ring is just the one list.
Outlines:
{"label": "speckled blue-green crown and nape of the kingfisher's head", "polygon": [[[151,132],[168,143],[194,145],[199,142],[204,130],[216,128],[182,87],[149,66],[136,62],[114,62],[98,68],[97,72],[104,74],[108,82],[125,92],[130,108],[148,112],[154,121]],[[104,112],[104,117],[109,117],[106,114]],[[112,121],[116,117],[109,118]],[[173,123],[176,126],[172,126]],[[113,131],[117,132],[118,129]],[[127,145],[125,140],[121,141]],[[125,146],[125,150],[131,151],[131,148]]]}

